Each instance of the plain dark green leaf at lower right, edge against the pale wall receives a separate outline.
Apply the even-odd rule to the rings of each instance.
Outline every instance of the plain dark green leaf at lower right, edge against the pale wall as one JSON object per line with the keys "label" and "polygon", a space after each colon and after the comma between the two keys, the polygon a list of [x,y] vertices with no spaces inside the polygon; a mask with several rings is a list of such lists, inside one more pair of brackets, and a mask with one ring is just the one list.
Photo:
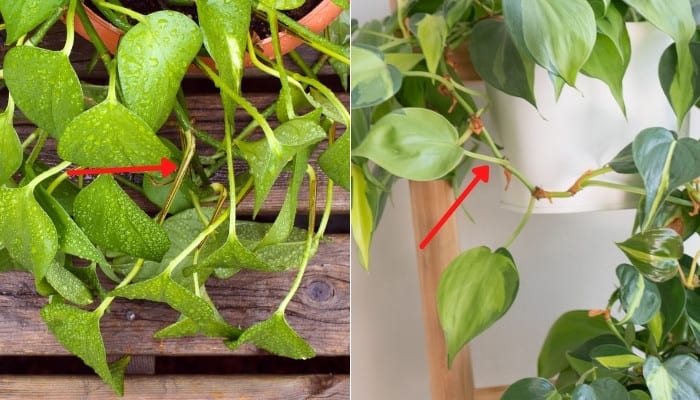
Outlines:
{"label": "plain dark green leaf at lower right, edge against the pale wall", "polygon": [[537,359],[537,375],[551,378],[569,366],[566,353],[597,336],[607,335],[610,328],[602,315],[589,317],[588,311],[563,314],[549,328]]}

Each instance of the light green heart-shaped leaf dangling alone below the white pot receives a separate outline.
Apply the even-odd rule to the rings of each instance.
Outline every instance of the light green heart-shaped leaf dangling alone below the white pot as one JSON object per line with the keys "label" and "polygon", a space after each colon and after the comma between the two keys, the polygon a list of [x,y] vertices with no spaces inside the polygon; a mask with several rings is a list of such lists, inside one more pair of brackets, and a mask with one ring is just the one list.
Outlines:
{"label": "light green heart-shaped leaf dangling alone below the white pot", "polygon": [[513,304],[519,278],[506,249],[476,247],[457,256],[440,277],[437,307],[447,340],[447,362]]}

